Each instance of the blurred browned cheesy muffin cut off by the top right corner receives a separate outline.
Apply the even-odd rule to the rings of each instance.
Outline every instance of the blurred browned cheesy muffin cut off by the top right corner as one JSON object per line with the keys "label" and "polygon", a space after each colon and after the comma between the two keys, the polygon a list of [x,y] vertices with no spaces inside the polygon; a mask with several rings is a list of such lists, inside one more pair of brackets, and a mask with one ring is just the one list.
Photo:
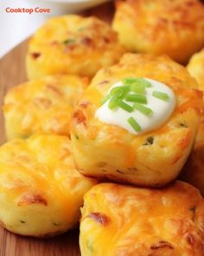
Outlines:
{"label": "blurred browned cheesy muffin cut off by the top right corner", "polygon": [[118,0],[113,29],[126,49],[186,63],[204,45],[199,0]]}

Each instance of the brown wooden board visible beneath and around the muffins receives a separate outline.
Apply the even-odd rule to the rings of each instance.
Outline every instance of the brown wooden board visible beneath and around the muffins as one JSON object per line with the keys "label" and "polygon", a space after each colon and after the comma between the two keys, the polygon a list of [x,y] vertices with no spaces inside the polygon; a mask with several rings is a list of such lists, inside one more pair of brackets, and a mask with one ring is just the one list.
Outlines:
{"label": "brown wooden board visible beneath and around the muffins", "polygon": [[[113,3],[106,3],[85,16],[99,16],[107,22],[112,20]],[[27,42],[23,42],[0,60],[0,104],[11,87],[27,80],[25,73],[25,54]],[[0,111],[0,144],[5,142],[3,113]],[[53,239],[41,240],[17,236],[0,227],[0,256],[80,256],[79,230],[69,231]]]}

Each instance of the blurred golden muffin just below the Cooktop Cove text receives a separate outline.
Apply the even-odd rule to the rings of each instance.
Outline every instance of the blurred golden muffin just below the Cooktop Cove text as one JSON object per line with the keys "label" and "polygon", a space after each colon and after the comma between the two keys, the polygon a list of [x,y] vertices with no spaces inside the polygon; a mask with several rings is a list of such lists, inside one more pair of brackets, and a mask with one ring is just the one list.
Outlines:
{"label": "blurred golden muffin just below the Cooktop Cove text", "polygon": [[29,79],[42,75],[92,76],[118,62],[124,48],[110,26],[96,17],[53,17],[29,42]]}

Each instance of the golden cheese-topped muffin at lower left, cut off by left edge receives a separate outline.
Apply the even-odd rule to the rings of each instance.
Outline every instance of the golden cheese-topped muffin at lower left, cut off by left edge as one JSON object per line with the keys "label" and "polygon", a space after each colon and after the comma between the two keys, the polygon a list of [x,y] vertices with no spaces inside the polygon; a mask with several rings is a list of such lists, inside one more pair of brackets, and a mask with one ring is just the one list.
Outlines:
{"label": "golden cheese-topped muffin at lower left, cut off by left edge", "polygon": [[75,169],[67,137],[10,141],[0,148],[0,223],[22,235],[64,233],[80,220],[83,195],[94,184]]}

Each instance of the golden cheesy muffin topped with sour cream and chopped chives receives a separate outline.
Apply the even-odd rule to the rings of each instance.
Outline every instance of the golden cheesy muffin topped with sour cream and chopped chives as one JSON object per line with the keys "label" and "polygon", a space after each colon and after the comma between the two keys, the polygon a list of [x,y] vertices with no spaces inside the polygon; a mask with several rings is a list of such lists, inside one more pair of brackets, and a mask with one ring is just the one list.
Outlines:
{"label": "golden cheesy muffin topped with sour cream and chopped chives", "polygon": [[163,187],[180,173],[200,124],[202,93],[168,56],[125,54],[100,70],[71,118],[73,156],[87,176]]}

